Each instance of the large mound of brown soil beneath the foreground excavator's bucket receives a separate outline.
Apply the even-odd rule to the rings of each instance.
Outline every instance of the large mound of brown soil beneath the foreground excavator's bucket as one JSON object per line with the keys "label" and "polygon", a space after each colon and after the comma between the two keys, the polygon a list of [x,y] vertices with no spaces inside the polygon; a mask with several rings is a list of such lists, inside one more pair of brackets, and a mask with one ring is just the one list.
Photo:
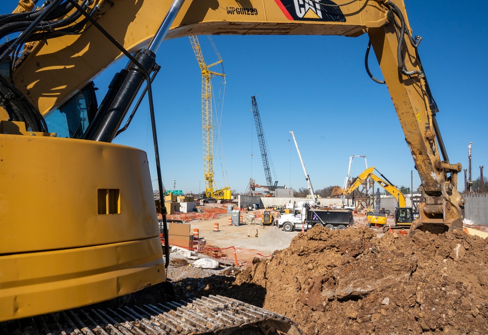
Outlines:
{"label": "large mound of brown soil beneath the foreground excavator's bucket", "polygon": [[488,241],[315,227],[232,278],[177,283],[284,314],[304,334],[487,334]]}

